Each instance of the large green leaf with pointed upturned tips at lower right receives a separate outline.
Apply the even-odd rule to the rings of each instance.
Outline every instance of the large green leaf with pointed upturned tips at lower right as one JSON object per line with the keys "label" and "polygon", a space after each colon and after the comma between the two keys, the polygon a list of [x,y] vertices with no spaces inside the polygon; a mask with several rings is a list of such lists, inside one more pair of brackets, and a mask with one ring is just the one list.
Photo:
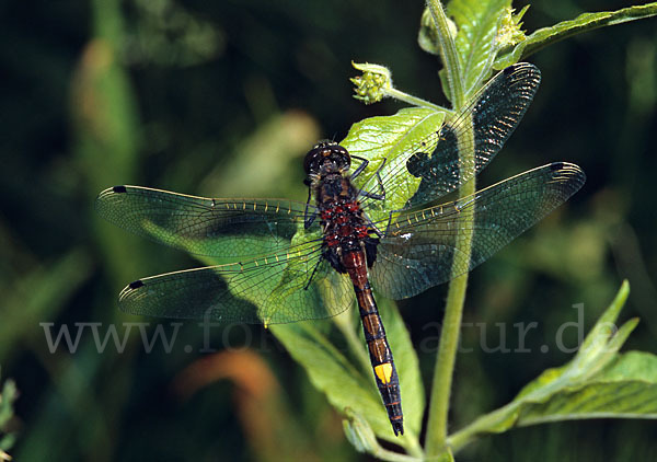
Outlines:
{"label": "large green leaf with pointed upturned tips at lower right", "polygon": [[613,324],[629,292],[625,281],[573,360],[548,369],[509,404],[450,436],[454,451],[476,436],[544,421],[657,418],[657,356],[618,353],[638,323],[633,319],[618,330]]}

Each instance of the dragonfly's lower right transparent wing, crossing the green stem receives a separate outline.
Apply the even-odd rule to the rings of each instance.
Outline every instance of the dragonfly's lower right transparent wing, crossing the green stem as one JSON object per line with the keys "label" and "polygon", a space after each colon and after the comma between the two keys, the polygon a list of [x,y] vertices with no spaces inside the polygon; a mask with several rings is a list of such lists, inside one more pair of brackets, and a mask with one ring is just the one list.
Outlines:
{"label": "dragonfly's lower right transparent wing, crossing the green stem", "polygon": [[[380,241],[372,286],[403,299],[468,273],[566,201],[585,180],[579,166],[555,162],[473,196],[403,213]],[[469,233],[471,254],[459,252],[459,240]]]}

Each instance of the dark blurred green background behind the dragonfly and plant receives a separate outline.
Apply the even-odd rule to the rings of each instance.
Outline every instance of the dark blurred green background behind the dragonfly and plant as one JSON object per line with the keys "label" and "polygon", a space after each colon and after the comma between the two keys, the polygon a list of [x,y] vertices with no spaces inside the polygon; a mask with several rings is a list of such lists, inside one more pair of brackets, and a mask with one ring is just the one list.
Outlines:
{"label": "dark blurred green background behind the dragonfly and plant", "polygon": [[[537,1],[525,28],[627,4]],[[210,354],[195,323],[162,321],[162,334],[177,332],[174,348],[147,351],[141,334],[152,338],[158,324],[122,313],[118,291],[197,263],[103,222],[93,200],[115,184],[304,200],[301,159],[316,139],[342,139],[353,123],[403,107],[355,101],[350,60],[385,65],[400,89],[446,104],[439,62],[416,45],[423,7],[2,2],[0,365],[21,393],[10,428],[15,460],[366,459],[261,327],[212,328]],[[556,160],[581,165],[588,182],[472,274],[464,321],[486,323],[489,348],[503,339],[518,347],[514,323],[538,327],[526,338],[531,353],[486,351],[481,330],[463,328],[472,351],[458,358],[452,429],[564,363],[570,355],[554,339],[577,321],[572,305],[584,303],[588,330],[623,278],[632,286],[623,315],[642,317],[629,348],[657,353],[656,24],[599,30],[530,58],[542,85],[479,184]],[[425,384],[445,291],[400,302]],[[129,322],[149,324],[131,327],[123,351],[112,339],[99,351],[92,325],[101,340],[111,325],[123,339]],[[61,326],[72,340],[81,332],[74,353],[64,344],[50,351],[46,331]],[[564,332],[575,346],[576,330]],[[459,460],[643,461],[657,453],[656,437],[650,420],[543,425],[485,438]]]}

